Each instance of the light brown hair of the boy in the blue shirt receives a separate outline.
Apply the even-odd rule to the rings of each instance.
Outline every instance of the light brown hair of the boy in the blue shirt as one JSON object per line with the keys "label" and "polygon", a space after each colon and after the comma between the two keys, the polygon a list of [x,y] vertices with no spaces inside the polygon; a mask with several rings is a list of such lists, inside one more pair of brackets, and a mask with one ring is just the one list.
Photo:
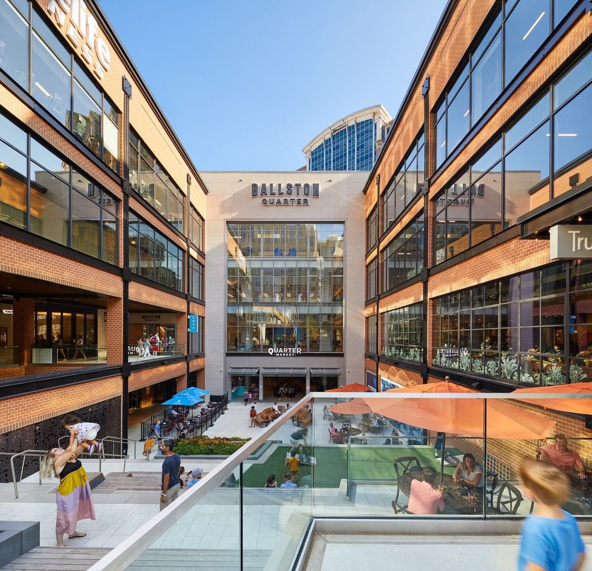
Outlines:
{"label": "light brown hair of the boy in the blue shirt", "polygon": [[570,491],[570,478],[555,464],[545,460],[522,460],[520,480],[546,505],[562,505]]}

